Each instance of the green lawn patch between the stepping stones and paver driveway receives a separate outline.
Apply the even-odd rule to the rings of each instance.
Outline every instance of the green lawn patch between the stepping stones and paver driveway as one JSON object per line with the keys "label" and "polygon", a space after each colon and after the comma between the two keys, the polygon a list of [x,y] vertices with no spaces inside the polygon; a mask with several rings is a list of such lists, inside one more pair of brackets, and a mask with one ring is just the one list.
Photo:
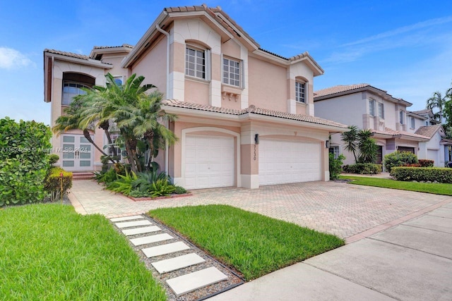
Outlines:
{"label": "green lawn patch between the stepping stones and paver driveway", "polygon": [[344,245],[334,235],[226,205],[155,209],[149,215],[234,266],[247,281]]}

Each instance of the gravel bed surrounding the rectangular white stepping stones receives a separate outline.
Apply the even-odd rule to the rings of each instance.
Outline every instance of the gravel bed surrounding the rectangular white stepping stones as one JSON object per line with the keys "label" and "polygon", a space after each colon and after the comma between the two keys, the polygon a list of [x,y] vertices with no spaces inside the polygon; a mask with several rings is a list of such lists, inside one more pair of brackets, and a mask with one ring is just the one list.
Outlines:
{"label": "gravel bed surrounding the rectangular white stepping stones", "polygon": [[[162,223],[160,223],[158,221],[155,221],[154,219],[151,219],[149,216],[146,216],[144,214],[142,214],[141,216],[143,216],[143,219],[147,219],[148,221],[153,223],[152,226],[158,226],[162,230],[161,231],[155,231],[153,233],[143,233],[143,234],[129,235],[129,236],[126,236],[126,238],[128,238],[129,245],[133,248],[133,250],[135,250],[136,254],[138,254],[138,257],[140,257],[141,261],[144,262],[146,268],[149,269],[152,272],[153,277],[157,281],[159,281],[160,284],[165,288],[165,290],[167,291],[167,297],[168,297],[169,301],[203,300],[203,298],[205,298],[205,297],[208,297],[210,295],[214,295],[216,293],[220,293],[223,290],[228,290],[230,288],[234,288],[235,286],[244,283],[244,280],[242,278],[240,278],[240,274],[239,274],[238,271],[232,271],[231,269],[227,268],[226,266],[224,266],[223,264],[221,264],[217,260],[215,260],[212,257],[208,256],[208,254],[206,254],[206,252],[203,252],[203,250],[201,250],[198,247],[196,247],[195,245],[193,245],[191,242],[189,242],[189,240],[184,238],[182,235],[180,235],[178,233],[175,233],[174,231],[172,231],[171,229],[167,228],[167,226],[163,225]],[[113,225],[114,225],[114,223],[113,223]],[[124,229],[117,228],[117,226],[114,226],[114,228],[117,229],[117,231],[119,233],[121,233],[121,235],[124,235],[121,232],[121,230],[124,230]],[[131,228],[127,228],[127,229],[132,229],[132,228],[140,228],[140,227],[131,227]],[[155,234],[162,234],[162,233],[167,233],[167,234],[173,236],[174,239],[172,239],[172,240],[165,240],[165,241],[162,241],[162,242],[153,242],[153,243],[150,243],[150,244],[138,245],[138,246],[134,246],[130,242],[130,240],[132,238],[141,238],[141,237],[144,237],[144,236],[155,235]],[[170,253],[170,254],[160,255],[160,256],[152,257],[152,258],[146,257],[145,254],[141,251],[141,249],[144,249],[144,248],[147,248],[147,247],[155,247],[157,245],[166,245],[168,243],[177,242],[177,241],[182,241],[186,245],[189,245],[190,249],[189,250],[179,251],[179,252],[174,252],[174,253]],[[201,264],[195,264],[194,266],[187,266],[186,268],[179,269],[177,271],[171,271],[171,272],[165,273],[165,274],[159,274],[157,272],[157,270],[155,270],[154,266],[152,265],[153,262],[158,262],[160,260],[174,258],[174,257],[178,257],[180,255],[189,254],[189,253],[196,253],[196,254],[198,254],[200,257],[205,259],[206,262],[203,262]],[[217,269],[222,271],[222,273],[227,276],[227,280],[220,281],[219,283],[208,285],[208,286],[206,286],[204,288],[199,288],[198,290],[194,290],[191,293],[186,293],[186,294],[181,295],[179,297],[177,297],[174,294],[172,289],[169,288],[169,286],[166,283],[166,281],[168,279],[175,278],[177,276],[186,275],[186,274],[192,273],[194,271],[200,271],[202,269],[207,269],[210,266],[215,266]]]}

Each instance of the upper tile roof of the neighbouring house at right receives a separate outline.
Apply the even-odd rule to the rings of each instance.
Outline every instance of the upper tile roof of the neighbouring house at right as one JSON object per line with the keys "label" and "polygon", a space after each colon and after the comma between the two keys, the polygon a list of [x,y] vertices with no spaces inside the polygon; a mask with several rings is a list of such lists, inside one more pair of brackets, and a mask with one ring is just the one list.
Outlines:
{"label": "upper tile roof of the neighbouring house at right", "polygon": [[411,106],[412,103],[407,102],[405,99],[393,97],[388,94],[386,90],[381,90],[377,87],[369,85],[367,83],[354,84],[354,85],[337,85],[314,92],[314,102],[319,102],[323,99],[330,99],[348,94],[354,94],[357,92],[369,91],[371,93],[379,95],[379,97],[386,99],[390,102],[402,103],[405,106]]}

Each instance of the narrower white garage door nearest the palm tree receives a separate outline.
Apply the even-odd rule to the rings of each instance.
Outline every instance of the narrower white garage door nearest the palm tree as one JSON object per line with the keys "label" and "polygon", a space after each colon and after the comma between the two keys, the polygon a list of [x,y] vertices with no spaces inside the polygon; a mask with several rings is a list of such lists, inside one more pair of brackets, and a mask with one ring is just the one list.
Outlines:
{"label": "narrower white garage door nearest the palm tree", "polygon": [[186,189],[234,185],[234,138],[186,135]]}

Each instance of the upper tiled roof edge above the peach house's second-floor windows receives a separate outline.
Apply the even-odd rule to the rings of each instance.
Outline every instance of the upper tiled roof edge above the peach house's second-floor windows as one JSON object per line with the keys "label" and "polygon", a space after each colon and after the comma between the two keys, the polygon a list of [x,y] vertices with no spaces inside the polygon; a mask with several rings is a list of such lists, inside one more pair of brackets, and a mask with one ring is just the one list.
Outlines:
{"label": "upper tiled roof edge above the peach house's second-floor windows", "polygon": [[210,8],[206,4],[201,6],[175,6],[164,8],[162,13],[155,19],[153,25],[150,25],[143,37],[137,42],[131,53],[124,58],[122,62],[123,68],[128,68],[136,61],[147,49],[148,45],[152,43],[157,36],[162,35],[160,29],[166,28],[172,20],[176,18],[187,18],[189,16],[201,18],[210,25],[217,26],[223,37],[235,38],[244,44],[251,53],[258,56],[263,56],[266,59],[271,59],[284,65],[290,65],[299,61],[305,61],[309,68],[314,71],[314,76],[323,74],[323,69],[319,63],[307,53],[298,54],[290,58],[285,58],[271,51],[262,49],[261,46],[254,40],[240,25],[238,25],[232,18],[230,18],[225,11],[222,11],[220,6]]}

